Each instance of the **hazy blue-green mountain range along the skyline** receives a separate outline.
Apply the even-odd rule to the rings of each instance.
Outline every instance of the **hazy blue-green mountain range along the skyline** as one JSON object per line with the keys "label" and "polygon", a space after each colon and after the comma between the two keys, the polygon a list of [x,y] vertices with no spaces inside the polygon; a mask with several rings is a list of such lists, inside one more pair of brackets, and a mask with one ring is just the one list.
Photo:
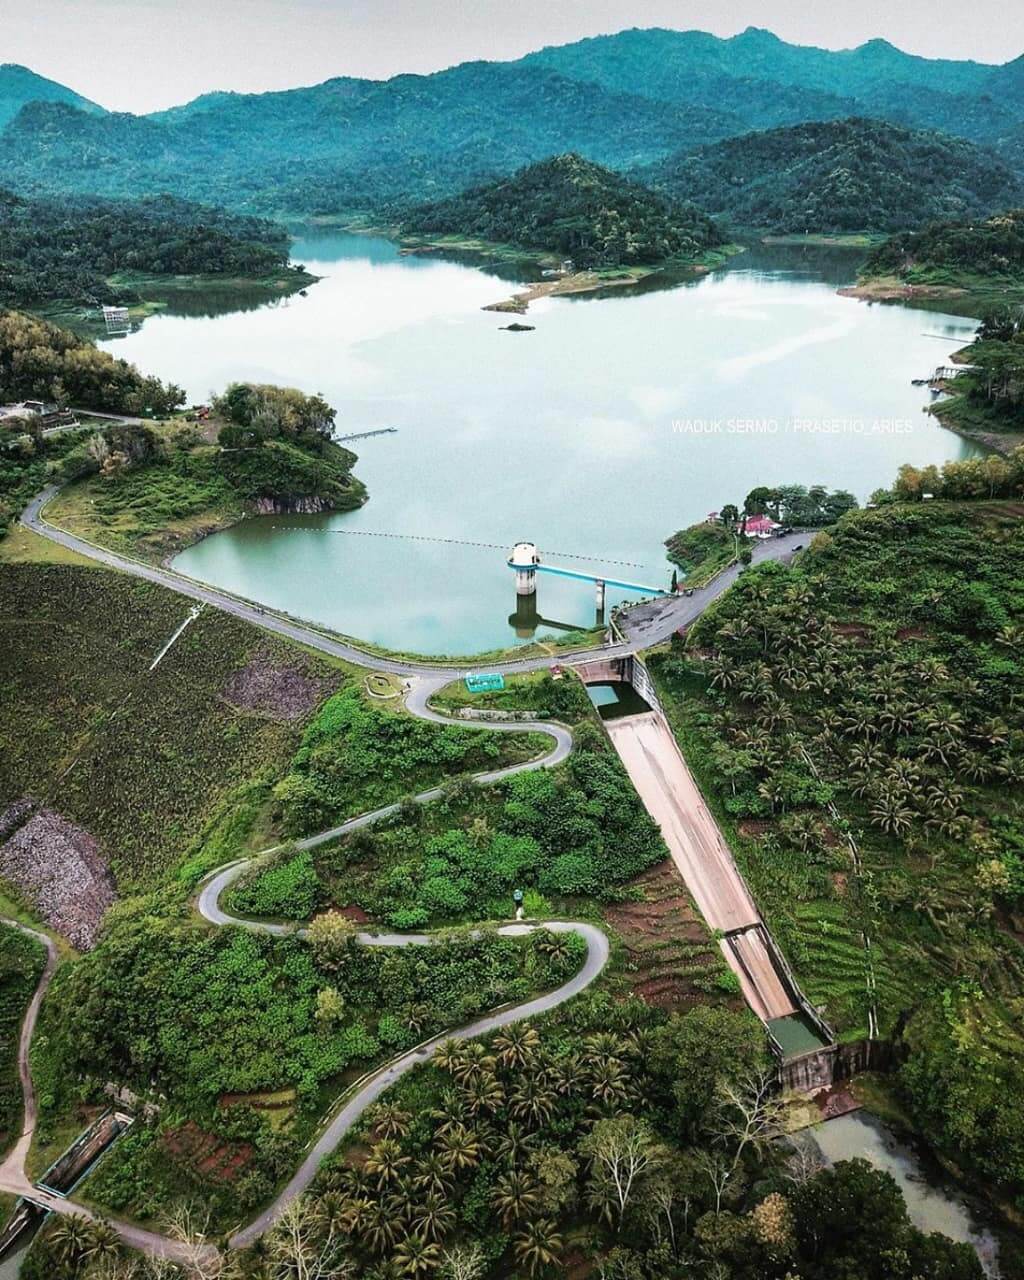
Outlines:
{"label": "hazy blue-green mountain range along the skyline", "polygon": [[[838,147],[820,164],[785,164],[780,140],[714,145],[751,131],[872,118],[942,131],[988,148],[932,136],[883,134]],[[703,32],[625,31],[543,49],[515,63],[466,63],[433,76],[339,78],[310,88],[215,92],[148,116],[104,113],[24,68],[0,69],[0,173],[10,188],[137,196],[169,191],[221,204],[305,215],[378,210],[438,200],[564,152],[659,180],[701,207],[769,224],[797,216],[799,182],[827,180],[844,221],[893,211],[910,175],[931,187],[908,206],[908,225],[936,210],[988,211],[1007,184],[989,152],[1024,172],[1024,58],[1002,67],[916,58],[882,40],[854,50],[788,45],[749,28],[721,40]],[[840,133],[851,129],[841,124]],[[691,152],[692,163],[685,163]],[[942,160],[942,152],[948,160]],[[750,164],[736,200],[724,184]],[[776,168],[772,168],[772,165]],[[920,170],[915,165],[920,164]],[[851,170],[850,183],[837,174]],[[672,177],[676,174],[676,178]],[[929,174],[934,175],[931,182]],[[692,189],[685,189],[687,182]],[[771,188],[778,182],[785,191]],[[950,189],[941,192],[942,183]],[[762,184],[760,187],[758,184]],[[884,187],[874,205],[859,192]],[[753,197],[753,200],[748,200]],[[832,195],[818,201],[820,209]],[[1016,202],[998,195],[997,202]],[[814,212],[808,209],[803,216]],[[764,224],[762,219],[762,224]],[[886,225],[891,225],[887,221]],[[814,229],[814,228],[813,228]],[[861,228],[864,227],[861,225]]]}

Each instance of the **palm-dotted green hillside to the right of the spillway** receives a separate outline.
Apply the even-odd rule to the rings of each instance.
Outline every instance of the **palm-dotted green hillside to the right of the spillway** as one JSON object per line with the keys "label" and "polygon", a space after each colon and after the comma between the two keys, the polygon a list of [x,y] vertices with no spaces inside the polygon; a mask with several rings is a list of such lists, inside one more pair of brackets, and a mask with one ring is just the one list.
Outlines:
{"label": "palm-dotted green hillside to the right of the spillway", "polygon": [[[947,465],[950,493],[988,462]],[[810,1000],[899,1038],[922,1132],[1019,1204],[1021,550],[1014,504],[890,495],[652,663]]]}

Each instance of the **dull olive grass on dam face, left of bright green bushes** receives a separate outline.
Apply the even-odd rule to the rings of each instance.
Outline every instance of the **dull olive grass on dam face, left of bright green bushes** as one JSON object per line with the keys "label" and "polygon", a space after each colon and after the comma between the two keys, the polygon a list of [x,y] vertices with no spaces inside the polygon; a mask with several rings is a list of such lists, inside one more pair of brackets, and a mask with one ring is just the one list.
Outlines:
{"label": "dull olive grass on dam face, left of bright green bushes", "polygon": [[[120,575],[72,566],[0,566],[0,805],[31,794],[100,841],[124,891],[154,883],[206,837],[210,859],[266,840],[269,790],[289,768],[301,722],[237,710],[228,678],[261,657],[332,689],[362,681],[348,668],[206,609],[155,672],[148,667],[189,605]],[[402,716],[374,707],[375,716]],[[417,731],[445,740],[457,730]],[[366,741],[366,730],[364,739]],[[483,751],[484,740],[466,731]],[[536,744],[527,744],[532,748]],[[497,755],[458,771],[521,758],[524,744],[495,740]],[[417,785],[443,777],[442,759]],[[353,772],[344,790],[355,813],[397,799],[406,780],[380,783]]]}

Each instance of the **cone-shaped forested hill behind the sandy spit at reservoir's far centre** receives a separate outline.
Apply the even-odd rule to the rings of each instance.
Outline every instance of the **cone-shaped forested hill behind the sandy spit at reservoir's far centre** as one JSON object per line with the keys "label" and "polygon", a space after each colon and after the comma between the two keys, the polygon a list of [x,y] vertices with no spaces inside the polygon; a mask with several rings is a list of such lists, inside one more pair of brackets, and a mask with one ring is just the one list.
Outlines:
{"label": "cone-shaped forested hill behind the sandy spit at reservoir's far centre", "polygon": [[403,230],[457,233],[571,257],[580,268],[692,259],[723,243],[716,224],[577,155],[413,209]]}

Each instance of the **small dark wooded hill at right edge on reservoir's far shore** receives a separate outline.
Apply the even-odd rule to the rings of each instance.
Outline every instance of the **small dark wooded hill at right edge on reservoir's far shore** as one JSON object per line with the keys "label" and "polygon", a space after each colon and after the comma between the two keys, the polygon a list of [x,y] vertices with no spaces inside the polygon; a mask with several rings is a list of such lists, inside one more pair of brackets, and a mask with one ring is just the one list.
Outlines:
{"label": "small dark wooded hill at right edge on reservoir's far shore", "polygon": [[993,214],[983,221],[936,223],[892,236],[868,256],[863,274],[896,275],[911,283],[972,275],[1024,282],[1024,209]]}

